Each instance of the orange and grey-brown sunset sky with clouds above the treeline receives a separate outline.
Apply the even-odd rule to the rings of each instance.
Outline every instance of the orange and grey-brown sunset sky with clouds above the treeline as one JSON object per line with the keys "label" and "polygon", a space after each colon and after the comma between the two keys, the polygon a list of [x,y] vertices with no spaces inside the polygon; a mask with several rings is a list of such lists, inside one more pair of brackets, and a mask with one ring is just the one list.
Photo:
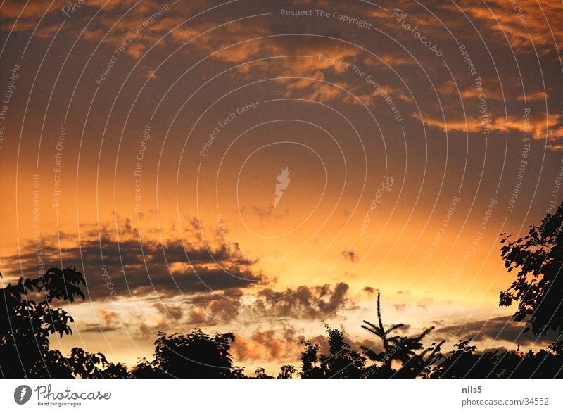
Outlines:
{"label": "orange and grey-brown sunset sky with clouds above the treeline", "polygon": [[543,343],[498,307],[499,241],[563,201],[560,1],[0,16],[0,283],[83,272],[55,347],[131,367],[199,326],[273,373],[324,324],[372,343],[378,291],[384,322],[445,348]]}

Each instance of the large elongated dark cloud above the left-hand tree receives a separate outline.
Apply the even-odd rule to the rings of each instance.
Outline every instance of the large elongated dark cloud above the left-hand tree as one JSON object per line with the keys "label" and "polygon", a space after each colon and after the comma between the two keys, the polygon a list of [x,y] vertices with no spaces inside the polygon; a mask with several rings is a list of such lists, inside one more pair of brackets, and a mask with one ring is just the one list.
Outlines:
{"label": "large elongated dark cloud above the left-hand tree", "polygon": [[[99,234],[99,236],[98,236]],[[61,234],[63,246],[46,239],[43,257],[46,267],[76,266],[87,281],[85,293],[91,300],[113,296],[175,296],[203,291],[228,291],[265,283],[265,276],[253,269],[255,261],[240,249],[213,241],[140,239],[127,222],[120,236],[101,229],[82,238]],[[119,240],[119,241],[118,241]],[[4,258],[4,266],[19,268],[23,274],[37,272],[37,252],[31,241],[20,255]],[[8,273],[9,274],[9,273]]]}

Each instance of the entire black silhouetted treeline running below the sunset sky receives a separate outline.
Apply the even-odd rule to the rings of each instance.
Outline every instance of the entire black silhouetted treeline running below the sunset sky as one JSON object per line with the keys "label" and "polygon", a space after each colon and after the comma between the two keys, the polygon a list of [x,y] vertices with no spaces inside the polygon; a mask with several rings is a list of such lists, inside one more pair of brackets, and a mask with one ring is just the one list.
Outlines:
{"label": "entire black silhouetted treeline running below the sunset sky", "polygon": [[[563,203],[555,215],[515,241],[501,234],[500,253],[516,278],[500,292],[500,306],[517,305],[514,320],[524,322],[536,336],[555,331],[558,339],[533,352],[479,351],[472,338],[460,339],[443,352],[445,341],[428,343],[434,327],[417,336],[401,336],[403,324],[385,326],[381,297],[377,320],[362,328],[377,345],[354,349],[343,331],[327,326],[327,354],[320,345],[303,340],[301,366],[283,365],[270,376],[264,369],[246,374],[234,365],[230,352],[233,333],[208,335],[201,329],[189,334],[158,333],[153,360],[139,360],[127,369],[108,362],[101,353],[73,348],[65,357],[51,349],[51,334],[72,334],[74,321],[56,303],[84,300],[84,277],[76,269],[49,269],[37,279],[20,278],[0,289],[0,375],[4,378],[552,378],[563,376]],[[1,277],[1,274],[0,274]],[[379,350],[378,350],[379,349]]]}

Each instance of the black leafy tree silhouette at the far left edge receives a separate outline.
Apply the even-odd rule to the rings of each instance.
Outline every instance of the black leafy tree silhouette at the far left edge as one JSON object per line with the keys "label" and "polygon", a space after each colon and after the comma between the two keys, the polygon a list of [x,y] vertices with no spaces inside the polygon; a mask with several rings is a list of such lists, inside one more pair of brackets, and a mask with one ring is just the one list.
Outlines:
{"label": "black leafy tree silhouette at the far left edge", "polygon": [[80,356],[76,349],[67,359],[60,351],[49,348],[49,336],[72,334],[72,317],[51,305],[53,301],[72,303],[76,296],[84,299],[80,284],[85,285],[84,277],[75,268],[51,268],[42,277],[22,277],[18,284],[0,289],[2,376],[49,378],[75,374]]}

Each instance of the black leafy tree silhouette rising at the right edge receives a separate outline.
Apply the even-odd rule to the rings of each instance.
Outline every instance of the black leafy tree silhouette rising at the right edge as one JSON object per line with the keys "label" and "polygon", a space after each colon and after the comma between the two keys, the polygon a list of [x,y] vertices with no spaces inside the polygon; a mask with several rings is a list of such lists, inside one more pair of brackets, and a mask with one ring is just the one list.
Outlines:
{"label": "black leafy tree silhouette rising at the right edge", "polygon": [[546,215],[539,227],[516,241],[510,235],[500,242],[508,272],[518,269],[510,288],[500,293],[501,307],[518,303],[517,321],[526,320],[533,333],[563,331],[563,203],[555,215]]}

